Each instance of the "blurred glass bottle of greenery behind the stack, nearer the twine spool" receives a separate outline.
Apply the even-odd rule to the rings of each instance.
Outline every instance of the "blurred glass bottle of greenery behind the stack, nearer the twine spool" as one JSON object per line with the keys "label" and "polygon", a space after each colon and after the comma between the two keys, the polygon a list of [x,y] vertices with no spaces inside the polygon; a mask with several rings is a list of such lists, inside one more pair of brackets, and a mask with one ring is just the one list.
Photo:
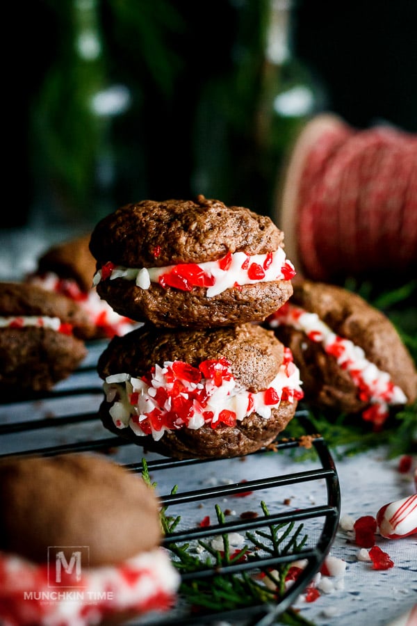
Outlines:
{"label": "blurred glass bottle of greenery behind the stack, nearer the twine spool", "polygon": [[230,70],[206,86],[197,109],[193,184],[196,193],[272,215],[286,155],[322,108],[322,90],[294,54],[291,0],[232,4]]}

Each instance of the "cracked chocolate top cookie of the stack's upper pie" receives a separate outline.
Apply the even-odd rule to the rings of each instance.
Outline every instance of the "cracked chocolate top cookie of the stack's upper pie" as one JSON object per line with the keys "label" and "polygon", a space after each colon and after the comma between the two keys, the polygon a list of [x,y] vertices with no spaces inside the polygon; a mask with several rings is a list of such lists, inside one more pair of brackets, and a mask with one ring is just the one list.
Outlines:
{"label": "cracked chocolate top cookie of the stack's upper pie", "polygon": [[162,267],[206,262],[227,252],[265,254],[277,250],[283,234],[270,218],[220,200],[142,200],[101,220],[90,250],[101,266]]}

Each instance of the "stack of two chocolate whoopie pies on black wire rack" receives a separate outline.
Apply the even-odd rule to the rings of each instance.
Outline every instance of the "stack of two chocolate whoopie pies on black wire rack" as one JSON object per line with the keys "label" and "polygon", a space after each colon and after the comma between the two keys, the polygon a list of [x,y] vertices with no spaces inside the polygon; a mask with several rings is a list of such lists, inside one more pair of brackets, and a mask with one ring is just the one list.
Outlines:
{"label": "stack of two chocolate whoopie pies on black wire rack", "polygon": [[143,200],[92,232],[94,284],[140,328],[98,362],[104,426],[174,458],[270,444],[303,395],[291,351],[261,323],[293,293],[284,234],[245,207]]}

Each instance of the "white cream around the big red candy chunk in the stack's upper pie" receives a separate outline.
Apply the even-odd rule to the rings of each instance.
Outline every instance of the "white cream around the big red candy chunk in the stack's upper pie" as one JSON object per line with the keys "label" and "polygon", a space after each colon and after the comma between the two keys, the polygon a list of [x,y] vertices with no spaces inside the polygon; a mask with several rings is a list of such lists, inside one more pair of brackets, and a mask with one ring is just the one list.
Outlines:
{"label": "white cream around the big red candy chunk in the stack's upper pie", "polygon": [[[196,265],[210,278],[213,278],[214,284],[207,287],[207,297],[212,298],[221,294],[225,289],[230,289],[236,284],[242,286],[244,284],[255,284],[257,282],[269,282],[274,280],[287,280],[286,272],[294,272],[293,264],[286,259],[285,252],[282,248],[278,248],[272,255],[247,255],[245,252],[234,252],[231,255],[231,263],[227,269],[222,269],[219,261],[207,261]],[[256,264],[263,269],[262,278],[250,278],[250,268],[252,264]],[[141,289],[149,289],[152,282],[158,283],[160,278],[170,273],[174,265],[165,267],[149,267],[149,268],[126,268],[123,266],[115,266],[110,275],[110,280],[115,278],[124,278],[124,280],[134,280],[136,285]],[[284,271],[283,271],[284,270]],[[249,272],[249,273],[248,273]],[[95,273],[93,285],[97,285],[102,280],[101,269]]]}

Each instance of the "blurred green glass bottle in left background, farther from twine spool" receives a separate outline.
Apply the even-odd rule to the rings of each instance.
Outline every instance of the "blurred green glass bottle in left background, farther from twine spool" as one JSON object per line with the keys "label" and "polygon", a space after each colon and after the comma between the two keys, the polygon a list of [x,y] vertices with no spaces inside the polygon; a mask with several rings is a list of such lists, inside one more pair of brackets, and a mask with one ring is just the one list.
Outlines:
{"label": "blurred green glass bottle in left background, farther from twine spool", "polygon": [[131,98],[108,81],[99,9],[99,0],[55,7],[58,49],[31,109],[34,210],[58,223],[91,225],[114,209],[111,125]]}

